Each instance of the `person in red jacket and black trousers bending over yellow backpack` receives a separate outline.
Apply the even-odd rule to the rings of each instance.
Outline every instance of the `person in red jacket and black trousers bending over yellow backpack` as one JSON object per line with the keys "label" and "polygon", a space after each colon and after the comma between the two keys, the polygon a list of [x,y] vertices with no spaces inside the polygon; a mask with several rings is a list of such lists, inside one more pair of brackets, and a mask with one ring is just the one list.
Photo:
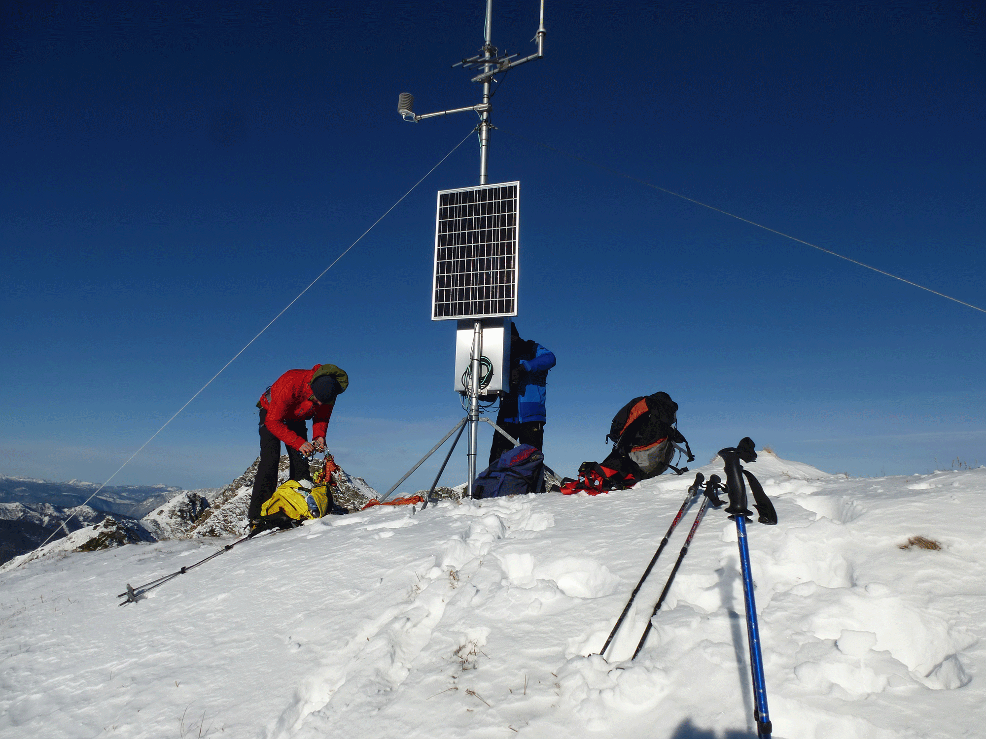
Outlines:
{"label": "person in red jacket and black trousers bending over yellow backpack", "polygon": [[[335,365],[316,365],[311,370],[288,370],[260,396],[260,463],[249,500],[250,523],[260,518],[260,506],[277,489],[277,465],[281,441],[288,449],[292,480],[311,480],[306,455],[324,451],[325,430],[335,407],[335,397],[349,386],[349,375]],[[313,419],[308,440],[307,419]]]}

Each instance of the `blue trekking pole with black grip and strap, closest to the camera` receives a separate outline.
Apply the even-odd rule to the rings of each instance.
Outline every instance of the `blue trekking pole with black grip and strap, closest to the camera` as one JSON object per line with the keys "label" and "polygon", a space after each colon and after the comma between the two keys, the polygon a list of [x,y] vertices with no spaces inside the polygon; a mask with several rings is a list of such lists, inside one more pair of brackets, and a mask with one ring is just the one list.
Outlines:
{"label": "blue trekking pole with black grip and strap, closest to the camera", "polygon": [[744,470],[740,459],[752,462],[756,459],[753,441],[744,437],[735,447],[719,450],[726,467],[727,493],[730,505],[726,512],[737,522],[737,540],[740,547],[740,571],[742,573],[743,605],[746,608],[746,636],[749,640],[749,668],[753,682],[753,695],[756,707],[753,709],[753,719],[756,721],[758,739],[770,739],[773,727],[770,723],[770,711],[767,708],[767,684],[763,676],[763,655],[760,650],[760,630],[756,621],[756,601],[753,598],[753,575],[749,566],[749,547],[746,543],[746,517],[753,511],[746,507],[746,486],[743,485],[743,475],[749,480],[756,501],[754,506],[760,513],[761,523],[777,523],[777,513],[770,499],[763,493],[763,488],[753,475]]}

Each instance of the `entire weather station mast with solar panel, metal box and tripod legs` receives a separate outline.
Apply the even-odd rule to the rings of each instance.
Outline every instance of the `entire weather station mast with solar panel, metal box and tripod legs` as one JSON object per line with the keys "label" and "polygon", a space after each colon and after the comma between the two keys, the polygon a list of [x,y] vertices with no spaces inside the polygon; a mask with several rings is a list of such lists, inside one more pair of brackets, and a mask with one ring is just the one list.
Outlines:
{"label": "entire weather station mast with solar panel, metal box and tripod legs", "polygon": [[[432,280],[432,320],[456,320],[456,370],[454,389],[468,402],[465,418],[439,441],[404,477],[387,491],[396,490],[414,470],[435,453],[447,439],[456,436],[435,483],[438,485],[462,432],[468,427],[468,480],[466,495],[471,498],[476,479],[476,445],[479,423],[486,422],[494,433],[502,434],[515,446],[519,441],[484,417],[483,411],[501,394],[510,392],[510,336],[512,317],[517,315],[518,244],[521,202],[519,181],[489,184],[488,164],[493,84],[497,75],[544,56],[544,0],[540,0],[540,20],[534,43],[537,50],[522,57],[503,53],[493,45],[493,0],[486,0],[484,41],[480,53],[453,65],[479,70],[472,78],[483,86],[482,101],[467,107],[434,113],[414,112],[414,96],[401,93],[397,112],[404,120],[417,123],[426,118],[452,115],[469,110],[479,115],[479,185],[438,192],[435,225],[435,267]],[[502,78],[501,78],[502,79]],[[485,401],[483,406],[480,401]]]}

